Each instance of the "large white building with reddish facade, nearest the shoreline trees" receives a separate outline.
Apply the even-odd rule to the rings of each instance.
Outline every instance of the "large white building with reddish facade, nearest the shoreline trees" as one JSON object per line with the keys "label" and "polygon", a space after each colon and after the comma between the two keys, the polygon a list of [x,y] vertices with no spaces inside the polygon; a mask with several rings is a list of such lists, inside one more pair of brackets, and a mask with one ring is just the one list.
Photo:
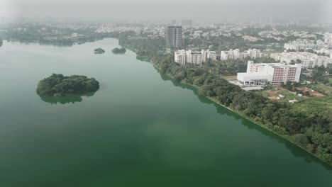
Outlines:
{"label": "large white building with reddish facade, nearest the shoreline trees", "polygon": [[254,64],[248,61],[247,72],[238,73],[238,83],[243,86],[265,86],[269,84],[299,82],[301,64],[286,65],[285,63]]}

